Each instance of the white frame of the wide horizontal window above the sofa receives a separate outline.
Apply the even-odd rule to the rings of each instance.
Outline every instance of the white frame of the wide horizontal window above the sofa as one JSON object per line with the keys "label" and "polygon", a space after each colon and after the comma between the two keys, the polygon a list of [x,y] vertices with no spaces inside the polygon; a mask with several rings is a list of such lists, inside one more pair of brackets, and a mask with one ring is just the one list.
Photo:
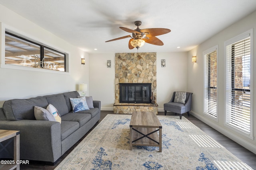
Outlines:
{"label": "white frame of the wide horizontal window above the sofa", "polygon": [[[64,53],[66,55],[65,57],[65,71],[57,71],[57,70],[51,70],[51,69],[42,69],[42,68],[34,68],[34,67],[27,67],[27,66],[19,66],[14,64],[5,64],[5,32],[9,32],[11,34],[14,34],[16,37],[22,37],[23,39],[26,39],[28,41],[32,41],[32,43],[35,43],[36,45],[42,45],[48,49],[57,51],[59,53]],[[45,43],[42,40],[38,40],[38,38],[33,37],[32,35],[29,35],[28,33],[24,33],[14,27],[10,27],[4,23],[1,23],[1,59],[0,59],[0,68],[10,68],[10,69],[18,69],[18,70],[30,70],[30,71],[38,71],[38,72],[50,72],[50,73],[56,73],[56,74],[70,74],[70,60],[69,55],[70,53],[62,50],[59,47],[54,47],[54,45],[50,45],[50,43]]]}

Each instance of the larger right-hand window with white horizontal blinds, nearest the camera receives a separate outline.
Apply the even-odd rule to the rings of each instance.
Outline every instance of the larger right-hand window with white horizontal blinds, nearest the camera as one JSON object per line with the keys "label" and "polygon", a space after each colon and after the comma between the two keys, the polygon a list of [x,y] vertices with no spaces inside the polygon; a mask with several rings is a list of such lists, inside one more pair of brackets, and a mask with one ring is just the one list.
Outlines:
{"label": "larger right-hand window with white horizontal blinds, nearest the camera", "polygon": [[250,134],[250,35],[226,46],[226,124]]}

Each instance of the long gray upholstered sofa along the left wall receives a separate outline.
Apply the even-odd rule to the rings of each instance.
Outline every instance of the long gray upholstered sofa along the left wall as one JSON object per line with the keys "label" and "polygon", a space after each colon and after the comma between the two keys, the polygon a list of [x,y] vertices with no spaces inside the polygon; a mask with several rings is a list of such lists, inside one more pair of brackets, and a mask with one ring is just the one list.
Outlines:
{"label": "long gray upholstered sofa along the left wall", "polygon": [[[99,121],[100,101],[93,101],[92,109],[72,112],[69,98],[78,96],[73,91],[4,102],[0,129],[20,131],[20,159],[54,164]],[[35,119],[34,106],[46,108],[49,104],[58,110],[61,123]]]}

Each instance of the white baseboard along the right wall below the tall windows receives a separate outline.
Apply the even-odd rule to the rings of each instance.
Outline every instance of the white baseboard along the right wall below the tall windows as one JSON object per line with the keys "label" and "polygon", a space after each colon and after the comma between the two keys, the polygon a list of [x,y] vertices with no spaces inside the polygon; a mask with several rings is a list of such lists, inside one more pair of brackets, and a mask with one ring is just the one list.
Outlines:
{"label": "white baseboard along the right wall below the tall windows", "polygon": [[220,126],[218,126],[218,125],[208,121],[207,119],[205,119],[201,115],[198,115],[194,111],[190,111],[190,114],[193,115],[194,117],[198,118],[199,120],[203,121],[204,123],[206,123],[207,125],[209,125],[213,129],[215,129],[216,131],[222,133],[226,137],[228,137],[231,140],[235,141],[239,145],[243,146],[244,148],[246,148],[246,149],[250,150],[251,152],[253,152],[254,154],[256,154],[256,146],[255,145],[252,145],[251,143],[248,143],[244,139],[242,139],[242,138],[232,134],[230,131],[227,131],[227,130],[223,129],[222,127],[220,127]]}

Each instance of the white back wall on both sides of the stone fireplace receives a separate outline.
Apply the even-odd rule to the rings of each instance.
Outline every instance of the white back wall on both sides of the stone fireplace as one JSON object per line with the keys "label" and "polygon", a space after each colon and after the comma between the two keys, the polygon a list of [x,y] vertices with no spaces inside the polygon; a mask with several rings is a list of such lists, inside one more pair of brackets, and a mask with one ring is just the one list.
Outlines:
{"label": "white back wall on both sides of the stone fireplace", "polygon": [[[165,59],[166,67],[161,67]],[[111,68],[107,68],[111,60]],[[100,100],[102,110],[113,110],[115,102],[115,54],[90,54],[90,95]],[[187,53],[156,53],[156,83],[158,111],[164,111],[174,91],[187,90]],[[192,63],[190,63],[192,64]]]}

